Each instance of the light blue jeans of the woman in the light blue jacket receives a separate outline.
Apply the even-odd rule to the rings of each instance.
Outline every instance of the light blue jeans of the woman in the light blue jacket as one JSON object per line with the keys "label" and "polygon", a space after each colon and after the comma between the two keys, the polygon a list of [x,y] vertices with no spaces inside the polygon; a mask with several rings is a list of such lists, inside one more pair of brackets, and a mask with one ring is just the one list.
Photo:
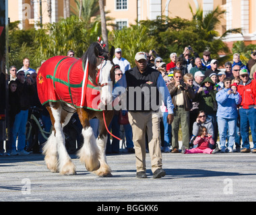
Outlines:
{"label": "light blue jeans of the woman in the light blue jacket", "polygon": [[[220,148],[226,148],[226,137],[228,136],[228,148],[233,148],[236,137],[236,118],[228,119],[218,116],[218,130],[220,136]],[[227,135],[228,132],[228,135]]]}

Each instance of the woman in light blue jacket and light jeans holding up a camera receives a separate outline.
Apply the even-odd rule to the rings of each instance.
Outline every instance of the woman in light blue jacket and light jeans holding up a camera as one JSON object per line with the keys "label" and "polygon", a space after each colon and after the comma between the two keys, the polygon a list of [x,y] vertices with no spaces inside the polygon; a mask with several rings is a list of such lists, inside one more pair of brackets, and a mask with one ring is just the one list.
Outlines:
{"label": "woman in light blue jacket and light jeans holding up a camera", "polygon": [[[241,103],[240,94],[234,89],[232,91],[231,79],[224,79],[224,89],[216,94],[218,102],[218,130],[220,135],[220,152],[232,153],[234,138],[236,136],[236,120],[238,118],[237,105]],[[228,131],[228,148],[226,148],[226,137]]]}

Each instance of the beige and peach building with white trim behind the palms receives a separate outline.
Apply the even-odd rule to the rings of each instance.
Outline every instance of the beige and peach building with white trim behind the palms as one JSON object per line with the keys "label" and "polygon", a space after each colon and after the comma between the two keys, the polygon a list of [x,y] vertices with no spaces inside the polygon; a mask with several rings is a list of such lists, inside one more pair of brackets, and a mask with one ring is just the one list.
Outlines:
{"label": "beige and peach building with white trim behind the palms", "polygon": [[[75,7],[74,0],[70,0],[70,4]],[[189,5],[193,11],[201,7],[204,13],[219,6],[226,10],[218,29],[220,35],[230,28],[243,29],[243,35],[230,34],[225,41],[230,46],[238,40],[256,44],[256,0],[105,0],[104,5],[105,11],[110,11],[108,16],[113,17],[112,22],[119,29],[135,24],[136,20],[156,19],[158,15],[191,19]],[[20,29],[36,27],[37,22],[58,22],[64,16],[63,0],[9,0],[8,13],[11,22],[22,21]]]}

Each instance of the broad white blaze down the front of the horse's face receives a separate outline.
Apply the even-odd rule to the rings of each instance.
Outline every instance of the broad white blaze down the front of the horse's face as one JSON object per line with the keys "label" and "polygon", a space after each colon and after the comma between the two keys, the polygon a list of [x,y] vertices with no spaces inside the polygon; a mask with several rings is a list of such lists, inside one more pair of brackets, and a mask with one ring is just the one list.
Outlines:
{"label": "broad white blaze down the front of the horse's face", "polygon": [[100,100],[104,105],[112,102],[112,83],[110,78],[110,71],[112,67],[113,64],[110,60],[104,60],[100,69],[100,84],[108,83],[108,85],[101,87]]}

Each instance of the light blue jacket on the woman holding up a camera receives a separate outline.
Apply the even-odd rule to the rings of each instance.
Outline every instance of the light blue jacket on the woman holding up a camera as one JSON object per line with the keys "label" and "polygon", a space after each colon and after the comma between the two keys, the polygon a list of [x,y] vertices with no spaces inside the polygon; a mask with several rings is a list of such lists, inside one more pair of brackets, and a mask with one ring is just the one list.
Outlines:
{"label": "light blue jacket on the woman holding up a camera", "polygon": [[237,118],[237,105],[242,101],[241,95],[239,93],[236,93],[236,95],[233,93],[228,95],[228,90],[229,89],[224,88],[216,94],[216,101],[218,102],[216,116],[228,119]]}

